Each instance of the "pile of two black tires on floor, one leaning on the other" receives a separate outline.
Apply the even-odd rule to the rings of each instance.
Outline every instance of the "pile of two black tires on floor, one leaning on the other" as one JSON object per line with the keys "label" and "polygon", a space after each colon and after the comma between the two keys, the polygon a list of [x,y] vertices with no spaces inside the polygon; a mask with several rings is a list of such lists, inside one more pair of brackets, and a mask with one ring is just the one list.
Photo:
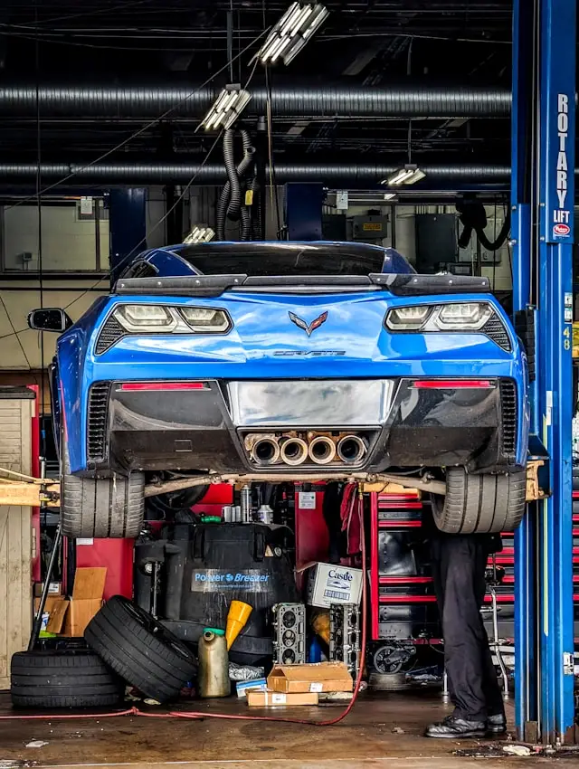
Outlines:
{"label": "pile of two black tires on floor, one leaning on the other", "polygon": [[185,644],[120,595],[93,617],[85,641],[90,649],[14,654],[14,707],[116,706],[126,684],[167,702],[195,679],[195,657]]}

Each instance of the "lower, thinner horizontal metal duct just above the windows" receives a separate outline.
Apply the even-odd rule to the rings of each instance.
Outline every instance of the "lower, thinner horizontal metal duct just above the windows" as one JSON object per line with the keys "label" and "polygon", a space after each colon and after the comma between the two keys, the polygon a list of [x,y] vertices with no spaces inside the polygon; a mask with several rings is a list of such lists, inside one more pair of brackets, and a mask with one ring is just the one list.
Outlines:
{"label": "lower, thinner horizontal metal duct just above the windows", "polygon": [[[473,185],[502,185],[509,181],[509,166],[456,165],[422,166],[427,183],[441,183],[448,187],[453,183]],[[67,182],[95,185],[157,185],[186,184],[195,177],[194,185],[222,185],[226,178],[225,166],[219,163],[99,163],[81,166],[68,163],[41,164],[43,184],[58,181],[70,175]],[[325,185],[375,185],[392,174],[396,166],[346,163],[276,163],[277,184],[286,182],[321,182]],[[28,183],[36,178],[38,168],[33,163],[0,163],[0,179],[3,183]],[[269,177],[269,168],[266,169]],[[408,191],[407,188],[405,191]]]}

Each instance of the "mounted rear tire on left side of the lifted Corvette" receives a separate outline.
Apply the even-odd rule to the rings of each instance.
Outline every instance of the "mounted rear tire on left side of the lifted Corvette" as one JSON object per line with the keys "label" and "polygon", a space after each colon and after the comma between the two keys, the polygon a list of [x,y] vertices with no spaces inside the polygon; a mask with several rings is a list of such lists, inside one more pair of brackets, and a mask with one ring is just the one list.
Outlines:
{"label": "mounted rear tire on left side of the lifted Corvette", "polygon": [[62,533],[74,538],[137,537],[145,514],[145,474],[104,479],[72,475],[63,442]]}

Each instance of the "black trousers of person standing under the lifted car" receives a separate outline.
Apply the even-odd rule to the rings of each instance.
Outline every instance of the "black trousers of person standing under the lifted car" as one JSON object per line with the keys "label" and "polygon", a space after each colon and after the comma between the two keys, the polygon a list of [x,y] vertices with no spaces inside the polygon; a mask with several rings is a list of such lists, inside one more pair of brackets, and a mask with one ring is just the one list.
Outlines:
{"label": "black trousers of person standing under the lifted car", "polygon": [[503,712],[489,639],[480,615],[489,543],[481,535],[435,535],[432,575],[442,618],[444,661],[454,715],[484,721]]}

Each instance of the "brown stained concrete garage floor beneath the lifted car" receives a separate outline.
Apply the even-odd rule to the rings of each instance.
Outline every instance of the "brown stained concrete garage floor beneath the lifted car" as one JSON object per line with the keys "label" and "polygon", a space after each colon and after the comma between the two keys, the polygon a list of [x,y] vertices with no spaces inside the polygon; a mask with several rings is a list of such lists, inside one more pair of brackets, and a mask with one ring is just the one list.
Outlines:
{"label": "brown stained concrete garage floor beneath the lifted car", "polygon": [[[241,713],[243,715],[287,715],[324,720],[335,717],[341,707],[299,707],[275,711],[249,710],[236,699],[195,702],[182,710]],[[145,708],[160,714],[161,708]],[[353,712],[338,726],[319,728],[293,724],[225,721],[214,718],[185,720],[135,716],[47,720],[2,720],[14,715],[9,699],[0,695],[0,769],[22,766],[171,766],[185,769],[319,769],[319,767],[387,767],[387,769],[485,769],[518,764],[564,761],[578,765],[574,756],[561,759],[513,758],[501,755],[502,745],[488,741],[427,740],[422,729],[438,720],[449,708],[440,696],[402,692],[387,695],[363,694]],[[508,717],[512,706],[508,705]],[[403,733],[396,731],[402,729]],[[42,747],[26,747],[32,740]],[[475,755],[456,755],[456,751]]]}

